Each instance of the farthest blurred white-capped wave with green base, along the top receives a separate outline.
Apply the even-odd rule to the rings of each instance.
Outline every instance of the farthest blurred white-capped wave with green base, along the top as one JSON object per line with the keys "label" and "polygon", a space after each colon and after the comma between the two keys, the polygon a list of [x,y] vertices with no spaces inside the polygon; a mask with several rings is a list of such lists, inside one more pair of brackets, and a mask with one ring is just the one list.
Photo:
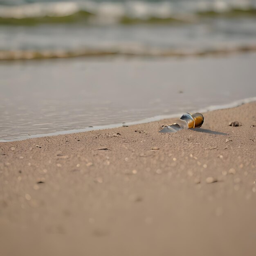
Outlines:
{"label": "farthest blurred white-capped wave with green base, along the top", "polygon": [[[28,1],[31,2],[31,1]],[[0,1],[0,25],[197,22],[207,17],[256,17],[255,0]],[[9,5],[7,5],[9,4]],[[10,5],[11,4],[11,5]]]}

